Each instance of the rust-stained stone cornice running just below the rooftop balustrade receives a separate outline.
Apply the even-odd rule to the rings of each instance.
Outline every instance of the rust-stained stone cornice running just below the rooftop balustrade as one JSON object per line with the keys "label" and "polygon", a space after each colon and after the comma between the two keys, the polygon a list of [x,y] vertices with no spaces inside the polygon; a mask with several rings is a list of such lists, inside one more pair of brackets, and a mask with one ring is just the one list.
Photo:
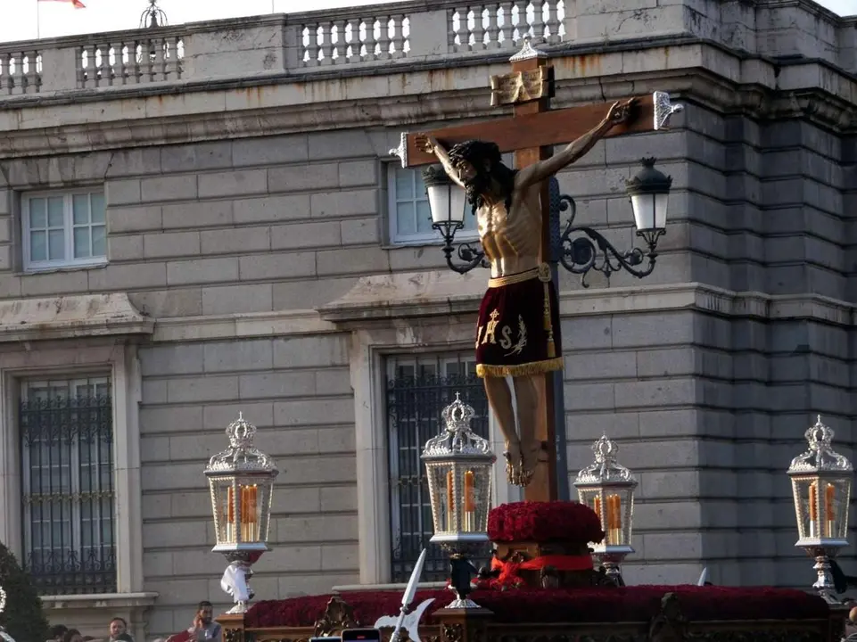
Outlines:
{"label": "rust-stained stone cornice running just below the rooftop balustrade", "polygon": [[[857,128],[857,82],[841,71],[820,62],[784,66],[688,38],[669,40],[673,43],[669,59],[690,63],[675,68],[660,65],[657,56],[665,51],[665,41],[655,46],[647,43],[646,51],[629,48],[634,43],[628,42],[579,50],[564,47],[564,55],[555,58],[555,106],[658,89],[718,111],[808,117],[828,128]],[[618,71],[606,73],[591,66],[588,74],[575,71],[575,61],[585,60],[581,56],[591,58],[593,54],[586,53],[589,50],[600,52],[597,60],[603,69]],[[652,68],[622,73],[622,55],[629,51],[649,56]],[[444,61],[397,65],[394,73],[389,68],[358,67],[350,70],[351,76],[339,72],[335,78],[313,72],[204,86],[151,86],[144,93],[99,91],[76,94],[70,105],[52,103],[44,95],[28,96],[14,103],[17,109],[0,112],[0,150],[7,157],[37,156],[496,117],[505,112],[490,108],[487,78],[506,69],[503,58],[505,54],[456,59],[455,75],[449,74],[450,61]],[[791,73],[785,90],[776,78],[780,68]],[[838,78],[832,90],[838,95],[818,87],[822,83],[813,78],[824,74]],[[594,78],[599,82],[593,83]],[[801,78],[810,78],[812,86],[801,87]],[[253,85],[256,89],[251,91]],[[421,100],[426,94],[433,100]],[[86,121],[96,106],[80,103],[84,98],[101,102],[102,120]],[[322,101],[325,110],[318,109]]]}

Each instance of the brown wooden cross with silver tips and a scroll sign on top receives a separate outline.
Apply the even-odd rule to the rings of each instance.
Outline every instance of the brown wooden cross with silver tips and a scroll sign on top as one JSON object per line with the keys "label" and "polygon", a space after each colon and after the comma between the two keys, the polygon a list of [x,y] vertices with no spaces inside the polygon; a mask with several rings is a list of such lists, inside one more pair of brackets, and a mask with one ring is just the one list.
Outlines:
{"label": "brown wooden cross with silver tips and a scroll sign on top", "polygon": [[[448,150],[454,144],[472,139],[496,143],[500,152],[515,152],[515,167],[520,169],[547,159],[553,145],[571,143],[596,128],[606,116],[611,103],[551,110],[549,98],[553,78],[548,56],[533,49],[529,40],[525,40],[522,50],[512,56],[509,62],[512,63],[512,73],[491,78],[491,104],[512,104],[512,118],[493,119],[427,133]],[[663,92],[639,97],[631,118],[612,128],[606,136],[665,128],[672,113],[680,109],[681,105],[672,105],[670,96]],[[400,157],[403,168],[437,162],[433,153],[417,147],[416,136],[403,133],[399,148],[390,151]],[[550,198],[547,180],[541,189],[541,209],[541,259],[547,263],[550,260]],[[557,498],[554,376],[561,377],[562,371],[545,374],[545,385],[541,388],[543,399],[540,407],[544,407],[546,413],[541,417],[535,435],[547,444],[548,460],[540,463],[532,481],[524,487],[524,499],[530,501],[551,501]]]}

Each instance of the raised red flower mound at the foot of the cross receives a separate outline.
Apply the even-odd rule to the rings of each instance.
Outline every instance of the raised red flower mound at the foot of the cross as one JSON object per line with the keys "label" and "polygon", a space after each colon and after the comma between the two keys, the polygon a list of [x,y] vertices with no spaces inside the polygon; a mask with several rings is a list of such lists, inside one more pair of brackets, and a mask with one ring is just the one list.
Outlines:
{"label": "raised red flower mound at the foot of the cross", "polygon": [[491,509],[488,539],[586,544],[604,539],[604,531],[595,511],[578,502],[515,502]]}

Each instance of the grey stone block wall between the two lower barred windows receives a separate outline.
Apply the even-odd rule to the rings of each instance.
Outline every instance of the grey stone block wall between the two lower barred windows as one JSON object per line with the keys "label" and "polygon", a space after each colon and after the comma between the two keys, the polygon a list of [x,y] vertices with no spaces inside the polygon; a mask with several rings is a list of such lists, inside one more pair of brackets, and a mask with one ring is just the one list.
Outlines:
{"label": "grey stone block wall between the two lower barred windows", "polygon": [[140,351],[144,574],[160,594],[150,634],[189,626],[193,603],[226,606],[204,461],[243,412],[280,474],[260,596],[325,592],[358,578],[354,403],[342,334],[175,342]]}

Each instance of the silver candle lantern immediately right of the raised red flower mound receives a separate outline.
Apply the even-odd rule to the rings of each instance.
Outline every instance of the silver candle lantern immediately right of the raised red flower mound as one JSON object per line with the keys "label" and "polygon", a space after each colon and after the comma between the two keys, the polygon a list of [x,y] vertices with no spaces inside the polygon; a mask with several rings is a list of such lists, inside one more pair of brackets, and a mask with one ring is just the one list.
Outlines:
{"label": "silver candle lantern immediately right of the raised red flower mound", "polygon": [[637,480],[619,464],[619,447],[606,435],[594,444],[595,462],[581,470],[574,481],[578,500],[596,512],[606,533],[601,542],[590,542],[592,556],[604,566],[607,577],[623,586],[620,564],[634,552],[630,546]]}

